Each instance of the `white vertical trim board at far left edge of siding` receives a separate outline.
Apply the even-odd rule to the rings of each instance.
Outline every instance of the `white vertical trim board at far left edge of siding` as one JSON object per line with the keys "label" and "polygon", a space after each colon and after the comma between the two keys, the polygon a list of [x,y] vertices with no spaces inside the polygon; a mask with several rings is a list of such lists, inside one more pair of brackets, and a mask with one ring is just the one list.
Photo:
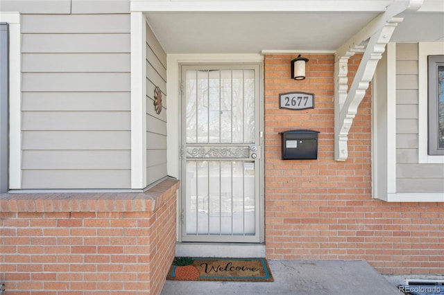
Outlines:
{"label": "white vertical trim board at far left edge of siding", "polygon": [[9,189],[22,188],[22,38],[20,13],[0,12],[9,24]]}

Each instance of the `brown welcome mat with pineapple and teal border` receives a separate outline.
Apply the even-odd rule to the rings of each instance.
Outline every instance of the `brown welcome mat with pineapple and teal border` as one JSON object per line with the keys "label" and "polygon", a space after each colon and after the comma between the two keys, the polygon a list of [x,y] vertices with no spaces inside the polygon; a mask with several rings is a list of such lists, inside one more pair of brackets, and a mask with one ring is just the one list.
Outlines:
{"label": "brown welcome mat with pineapple and teal border", "polygon": [[[178,266],[178,260],[189,260]],[[178,264],[178,265],[175,265]],[[273,282],[265,258],[175,258],[167,280],[234,280]]]}

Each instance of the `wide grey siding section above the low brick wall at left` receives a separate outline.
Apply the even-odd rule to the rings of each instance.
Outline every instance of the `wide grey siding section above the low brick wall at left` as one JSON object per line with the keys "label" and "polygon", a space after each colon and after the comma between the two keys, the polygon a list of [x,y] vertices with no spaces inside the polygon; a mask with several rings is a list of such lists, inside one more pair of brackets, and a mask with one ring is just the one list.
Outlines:
{"label": "wide grey siding section above the low brick wall at left", "polygon": [[130,188],[130,15],[86,13],[22,16],[24,189]]}

